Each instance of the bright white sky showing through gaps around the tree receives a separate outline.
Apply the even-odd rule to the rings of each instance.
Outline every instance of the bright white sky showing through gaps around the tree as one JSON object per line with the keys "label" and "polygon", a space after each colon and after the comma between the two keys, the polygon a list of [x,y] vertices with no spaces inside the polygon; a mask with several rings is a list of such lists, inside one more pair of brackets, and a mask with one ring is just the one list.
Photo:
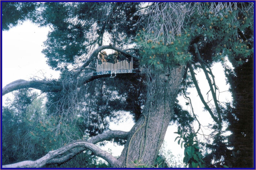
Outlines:
{"label": "bright white sky showing through gaps around the tree", "polygon": [[[53,71],[46,64],[46,58],[41,53],[43,49],[43,42],[47,39],[49,28],[48,27],[38,27],[37,25],[26,21],[22,25],[18,25],[9,31],[3,31],[3,56],[2,56],[2,83],[3,87],[11,83],[12,81],[18,79],[29,80],[34,76],[43,78],[42,73],[46,78],[58,78],[59,72]],[[229,86],[226,85],[225,75],[223,72],[223,67],[220,63],[217,63],[213,66],[212,71],[215,75],[215,81],[220,88],[220,91],[228,90]],[[204,77],[204,73],[196,72],[197,80],[199,81],[199,86],[202,90],[204,98],[207,99],[206,93],[209,90],[208,83]],[[207,87],[207,88],[205,88]],[[198,119],[201,124],[207,126],[208,123],[212,122],[210,114],[203,112],[203,104],[200,101],[200,98],[197,96],[195,88],[189,90],[191,93],[189,96],[192,99],[192,104],[195,109],[195,113],[199,115]],[[5,95],[2,99],[5,101],[6,97],[11,97],[12,94]],[[178,97],[180,104],[184,109],[190,110],[188,106],[185,105],[183,97]],[[231,100],[231,95],[229,92],[223,92],[220,95],[219,101],[226,102]],[[127,119],[118,125],[115,123],[110,123],[110,129],[112,130],[122,130],[129,131],[133,126],[133,121],[131,116],[127,115]],[[195,125],[197,126],[197,125]],[[196,128],[195,128],[196,129]],[[173,132],[177,131],[177,126],[169,126],[166,132],[165,141],[167,144],[168,150],[171,150],[174,155],[181,154],[183,155],[184,151],[177,144],[177,141],[174,142],[177,134]],[[210,133],[207,129],[204,130],[204,133]],[[122,146],[113,146],[113,144],[108,144],[103,147],[104,150],[110,148],[114,156],[121,154],[123,150]],[[181,160],[182,161],[182,160]]]}

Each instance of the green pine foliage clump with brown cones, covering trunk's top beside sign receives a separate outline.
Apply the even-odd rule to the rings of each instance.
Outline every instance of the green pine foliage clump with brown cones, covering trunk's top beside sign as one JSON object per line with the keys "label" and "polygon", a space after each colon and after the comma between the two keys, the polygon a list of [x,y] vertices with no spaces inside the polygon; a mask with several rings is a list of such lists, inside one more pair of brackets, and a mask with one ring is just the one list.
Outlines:
{"label": "green pine foliage clump with brown cones, covering trunk's top beside sign", "polygon": [[189,34],[177,35],[177,38],[170,44],[166,43],[168,40],[165,40],[163,35],[154,41],[150,39],[152,36],[144,29],[136,36],[135,42],[140,48],[139,62],[141,65],[148,64],[156,69],[162,69],[168,65],[186,64],[191,60],[192,56],[188,52]]}

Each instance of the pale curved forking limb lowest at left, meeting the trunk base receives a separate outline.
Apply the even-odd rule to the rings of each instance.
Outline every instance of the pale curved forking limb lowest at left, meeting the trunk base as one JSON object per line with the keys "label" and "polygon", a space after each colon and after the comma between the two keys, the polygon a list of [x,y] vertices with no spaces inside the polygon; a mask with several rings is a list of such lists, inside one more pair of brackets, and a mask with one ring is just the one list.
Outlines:
{"label": "pale curved forking limb lowest at left, meeting the trunk base", "polygon": [[112,167],[120,167],[120,163],[118,160],[110,155],[108,152],[105,152],[95,146],[95,143],[100,141],[113,139],[113,138],[120,138],[120,139],[127,139],[129,132],[124,131],[109,131],[106,133],[99,134],[97,136],[92,137],[87,141],[78,140],[71,142],[57,150],[49,151],[45,156],[39,158],[37,160],[26,160],[10,165],[3,165],[3,168],[17,168],[17,167],[42,167],[44,165],[49,164],[56,164],[56,163],[64,163],[75,155],[81,153],[85,149],[89,149],[90,151],[94,152],[95,155],[105,159],[110,166]]}

